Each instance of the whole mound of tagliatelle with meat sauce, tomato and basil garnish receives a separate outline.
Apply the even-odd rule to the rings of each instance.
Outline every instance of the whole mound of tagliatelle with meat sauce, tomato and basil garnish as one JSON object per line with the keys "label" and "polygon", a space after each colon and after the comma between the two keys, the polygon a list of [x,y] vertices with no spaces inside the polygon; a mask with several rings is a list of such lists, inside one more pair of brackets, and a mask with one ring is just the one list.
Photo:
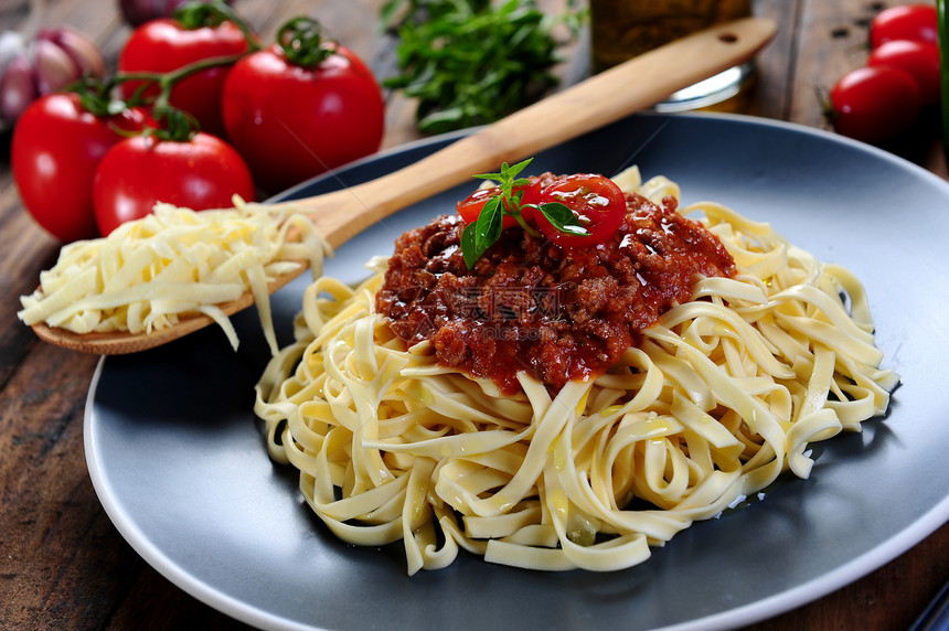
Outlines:
{"label": "whole mound of tagliatelle with meat sauce, tomato and basil garnish", "polygon": [[621,570],[886,411],[899,376],[844,267],[636,168],[622,217],[507,182],[362,282],[317,277],[257,383],[270,458],[340,539],[401,542],[409,575]]}

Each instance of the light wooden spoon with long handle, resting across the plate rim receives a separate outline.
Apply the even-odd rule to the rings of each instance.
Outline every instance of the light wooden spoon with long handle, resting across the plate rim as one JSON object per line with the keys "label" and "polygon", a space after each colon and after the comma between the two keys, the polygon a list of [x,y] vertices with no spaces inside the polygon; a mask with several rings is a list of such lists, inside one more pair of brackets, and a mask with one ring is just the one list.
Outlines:
{"label": "light wooden spoon with long handle, resting across the plate rim", "polygon": [[[682,88],[747,62],[776,31],[771,20],[760,18],[712,26],[594,75],[388,175],[284,203],[308,212],[320,234],[337,247],[396,211],[470,181],[474,173],[497,171],[502,162],[523,160],[615,122]],[[270,282],[270,292],[305,269],[301,267],[276,278]],[[248,291],[220,307],[231,314],[253,302]],[[151,349],[212,322],[205,316],[195,316],[148,334],[76,334],[44,323],[34,324],[33,330],[52,344],[108,355]]]}

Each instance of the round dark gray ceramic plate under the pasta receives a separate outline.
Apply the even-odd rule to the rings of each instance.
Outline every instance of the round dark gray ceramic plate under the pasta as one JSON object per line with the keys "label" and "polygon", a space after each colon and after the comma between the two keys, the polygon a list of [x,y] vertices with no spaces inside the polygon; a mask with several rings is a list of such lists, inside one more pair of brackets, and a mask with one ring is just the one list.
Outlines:
{"label": "round dark gray ceramic plate under the pasta", "polygon": [[[385,153],[308,183],[306,195],[373,178],[454,137]],[[886,364],[903,375],[891,414],[822,443],[809,480],[696,524],[614,574],[523,571],[462,557],[405,574],[402,548],[341,544],[270,463],[252,411],[267,361],[256,313],[233,352],[209,329],[105,360],[86,406],[89,473],[135,549],[183,590],[267,629],[715,629],[767,618],[884,565],[949,518],[949,185],[829,133],[753,118],[641,115],[537,157],[536,171],[611,174],[638,163],[684,201],[711,199],[771,222],[865,281]],[[473,181],[472,181],[473,185]],[[394,237],[452,208],[465,186],[343,246],[346,280]],[[305,281],[281,290],[286,341]]]}

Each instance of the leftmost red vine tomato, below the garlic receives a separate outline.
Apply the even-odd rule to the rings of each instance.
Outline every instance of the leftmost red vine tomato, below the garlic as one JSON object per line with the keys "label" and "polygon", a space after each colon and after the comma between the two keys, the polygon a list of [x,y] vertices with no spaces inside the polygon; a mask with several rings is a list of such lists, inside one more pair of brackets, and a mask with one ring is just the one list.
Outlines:
{"label": "leftmost red vine tomato, below the garlic", "polygon": [[78,95],[51,94],[33,101],[13,128],[10,161],[23,205],[38,224],[63,242],[99,236],[93,212],[93,177],[106,152],[140,130],[145,110],[98,118]]}

